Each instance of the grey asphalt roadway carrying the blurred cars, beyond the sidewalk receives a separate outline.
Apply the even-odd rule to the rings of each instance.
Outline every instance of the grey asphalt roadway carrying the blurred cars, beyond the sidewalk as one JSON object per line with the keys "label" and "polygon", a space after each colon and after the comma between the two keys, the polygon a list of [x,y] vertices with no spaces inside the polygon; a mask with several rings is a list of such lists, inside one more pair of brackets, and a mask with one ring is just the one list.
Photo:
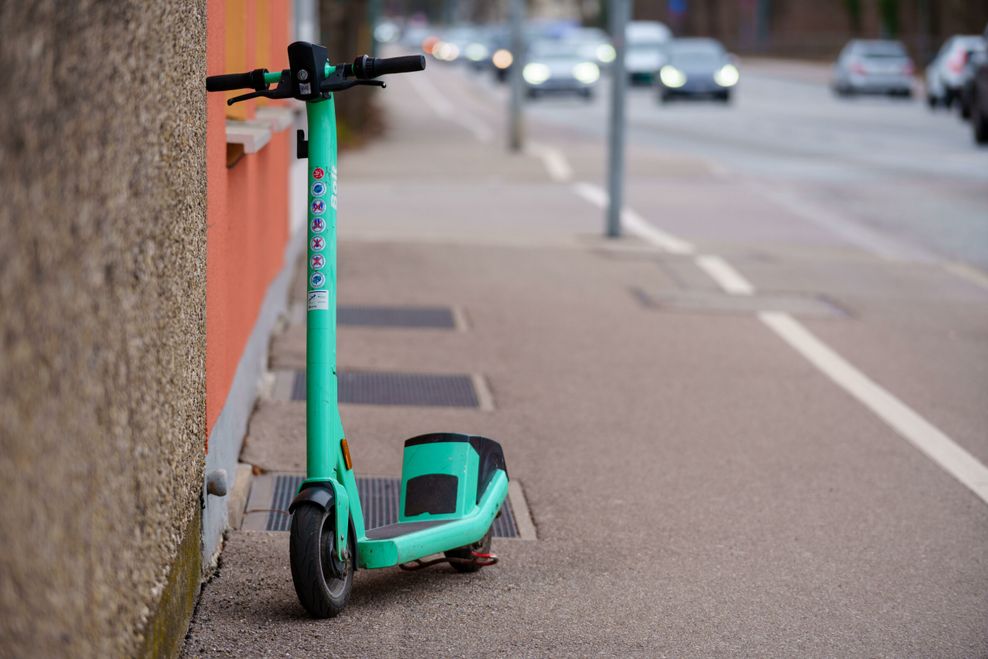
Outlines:
{"label": "grey asphalt roadway carrying the blurred cars, beyond the sidewalk", "polygon": [[[759,73],[759,71],[763,71]],[[551,99],[541,121],[603,137],[606,88],[592,107]],[[835,98],[818,71],[755,67],[731,107],[659,106],[632,90],[629,136],[664,152],[710,159],[749,180],[874,231],[861,246],[880,253],[957,259],[988,269],[988,151],[970,127],[919,102]]]}

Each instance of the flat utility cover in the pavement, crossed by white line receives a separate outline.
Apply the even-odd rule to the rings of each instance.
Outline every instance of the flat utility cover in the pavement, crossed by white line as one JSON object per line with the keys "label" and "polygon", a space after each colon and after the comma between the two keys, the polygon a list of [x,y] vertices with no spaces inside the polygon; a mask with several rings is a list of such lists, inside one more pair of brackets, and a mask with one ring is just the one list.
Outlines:
{"label": "flat utility cover in the pavement, crossed by white line", "polygon": [[668,290],[632,294],[649,309],[680,313],[755,314],[778,311],[814,318],[843,318],[847,312],[836,303],[814,295],[797,293],[758,293],[730,295],[720,291]]}

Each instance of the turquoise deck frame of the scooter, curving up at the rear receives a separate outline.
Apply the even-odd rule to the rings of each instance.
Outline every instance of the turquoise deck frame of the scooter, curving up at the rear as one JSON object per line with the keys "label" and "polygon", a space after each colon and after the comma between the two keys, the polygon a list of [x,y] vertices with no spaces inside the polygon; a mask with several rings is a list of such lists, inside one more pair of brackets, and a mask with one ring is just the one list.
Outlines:
{"label": "turquoise deck frame of the scooter, curving up at the rear", "polygon": [[480,540],[508,495],[508,476],[498,470],[477,507],[463,517],[398,522],[372,529],[357,541],[362,568],[392,567]]}

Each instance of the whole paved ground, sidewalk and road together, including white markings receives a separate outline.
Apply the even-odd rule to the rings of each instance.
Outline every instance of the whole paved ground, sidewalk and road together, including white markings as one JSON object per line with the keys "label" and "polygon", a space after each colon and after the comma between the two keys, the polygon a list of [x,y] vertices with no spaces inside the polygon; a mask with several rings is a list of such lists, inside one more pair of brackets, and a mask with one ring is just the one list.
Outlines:
{"label": "whole paved ground, sidewalk and road together, including white markings", "polygon": [[[730,108],[635,92],[620,241],[601,101],[533,107],[508,156],[502,90],[389,86],[390,133],[341,166],[341,301],[469,329],[346,328],[341,366],[483,374],[494,410],[344,406],[354,459],[496,437],[538,539],[466,579],[360,573],[314,622],[285,534],[234,532],[186,654],[988,655],[988,154],[763,71]],[[259,406],[256,466],[298,468],[300,406]]]}

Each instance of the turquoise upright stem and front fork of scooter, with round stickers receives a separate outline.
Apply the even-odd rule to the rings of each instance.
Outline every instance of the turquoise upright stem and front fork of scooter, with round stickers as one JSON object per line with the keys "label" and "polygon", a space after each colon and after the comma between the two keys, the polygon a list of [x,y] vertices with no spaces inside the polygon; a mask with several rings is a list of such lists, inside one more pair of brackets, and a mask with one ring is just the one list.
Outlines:
{"label": "turquoise upright stem and front fork of scooter, with round stickers", "polygon": [[328,484],[335,505],[337,553],[350,533],[363,537],[363,512],[353,470],[343,455],[336,375],[336,111],[332,95],[305,104],[308,118],[306,205],[306,479]]}

